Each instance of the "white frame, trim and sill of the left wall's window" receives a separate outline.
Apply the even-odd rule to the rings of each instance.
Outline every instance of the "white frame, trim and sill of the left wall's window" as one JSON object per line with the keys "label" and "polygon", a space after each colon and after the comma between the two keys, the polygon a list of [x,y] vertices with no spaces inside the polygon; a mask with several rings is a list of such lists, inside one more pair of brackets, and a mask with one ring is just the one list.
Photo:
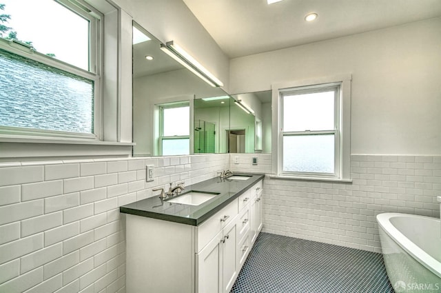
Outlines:
{"label": "white frame, trim and sill of the left wall's window", "polygon": [[[70,72],[81,77],[91,79],[98,76],[95,81],[95,94],[99,95],[99,99],[94,101],[94,134],[82,135],[45,130],[30,130],[30,133],[25,134],[21,129],[12,132],[5,128],[3,134],[0,133],[0,162],[132,155],[132,146],[135,145],[132,143],[131,119],[132,64],[122,62],[122,59],[132,60],[132,17],[107,0],[77,1],[92,8],[94,17],[103,14],[106,16],[105,21],[100,22],[101,28],[105,27],[105,34],[99,37],[98,48],[101,49],[91,54],[94,54],[94,58],[99,58],[99,54],[103,54],[103,63],[107,65],[104,68],[107,70],[103,70],[103,63],[101,63],[94,68],[95,73],[88,72],[68,63],[63,64],[63,61],[48,60],[48,57],[43,54],[39,57],[38,52],[30,54],[23,52],[23,46],[17,43],[12,44],[12,47],[18,48],[10,47],[9,42],[6,42],[6,46],[10,52],[19,51],[21,54],[26,54],[25,57],[36,61],[43,58],[45,63],[55,68],[65,70],[68,67]],[[60,0],[60,2],[68,3],[65,0]],[[99,8],[103,14],[100,14],[89,3],[93,3],[92,5]],[[106,52],[103,52],[104,47],[106,47]],[[11,48],[17,51],[12,51]],[[127,76],[130,76],[130,83],[128,83],[130,87],[123,85],[121,81]]]}

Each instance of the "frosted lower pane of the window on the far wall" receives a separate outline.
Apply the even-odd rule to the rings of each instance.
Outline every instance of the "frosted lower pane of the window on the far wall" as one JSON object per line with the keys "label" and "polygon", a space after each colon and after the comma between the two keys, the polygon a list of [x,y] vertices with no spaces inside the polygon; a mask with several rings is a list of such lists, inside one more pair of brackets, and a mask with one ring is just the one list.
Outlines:
{"label": "frosted lower pane of the window on the far wall", "polygon": [[283,171],[334,173],[334,134],[283,137]]}

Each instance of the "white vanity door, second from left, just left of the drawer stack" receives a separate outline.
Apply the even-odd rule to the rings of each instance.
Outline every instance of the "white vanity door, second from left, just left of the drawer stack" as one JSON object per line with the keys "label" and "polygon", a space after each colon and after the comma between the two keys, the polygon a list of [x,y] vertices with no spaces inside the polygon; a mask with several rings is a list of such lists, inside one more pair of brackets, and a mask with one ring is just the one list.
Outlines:
{"label": "white vanity door, second from left, just left of the drawer stack", "polygon": [[236,220],[223,229],[223,267],[222,267],[222,292],[228,293],[234,285],[237,272],[237,242]]}

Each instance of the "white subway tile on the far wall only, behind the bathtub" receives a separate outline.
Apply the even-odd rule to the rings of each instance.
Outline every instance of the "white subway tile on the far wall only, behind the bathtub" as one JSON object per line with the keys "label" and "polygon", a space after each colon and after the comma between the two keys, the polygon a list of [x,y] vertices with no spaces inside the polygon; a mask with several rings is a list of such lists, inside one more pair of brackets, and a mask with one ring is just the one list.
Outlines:
{"label": "white subway tile on the far wall only, behind the bathtub", "polygon": [[[249,162],[249,155],[240,155],[232,169],[252,172]],[[441,156],[352,155],[351,178],[338,183],[266,176],[263,231],[381,252],[377,214],[440,217]]]}

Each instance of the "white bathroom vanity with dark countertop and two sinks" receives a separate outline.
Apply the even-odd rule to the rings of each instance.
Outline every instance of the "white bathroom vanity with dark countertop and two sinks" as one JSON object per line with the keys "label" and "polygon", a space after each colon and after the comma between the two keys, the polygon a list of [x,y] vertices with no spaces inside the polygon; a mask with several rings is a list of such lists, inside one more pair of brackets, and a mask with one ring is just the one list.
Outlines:
{"label": "white bathroom vanity with dark countertop and two sinks", "polygon": [[262,228],[263,177],[209,179],[122,206],[127,292],[229,292]]}

